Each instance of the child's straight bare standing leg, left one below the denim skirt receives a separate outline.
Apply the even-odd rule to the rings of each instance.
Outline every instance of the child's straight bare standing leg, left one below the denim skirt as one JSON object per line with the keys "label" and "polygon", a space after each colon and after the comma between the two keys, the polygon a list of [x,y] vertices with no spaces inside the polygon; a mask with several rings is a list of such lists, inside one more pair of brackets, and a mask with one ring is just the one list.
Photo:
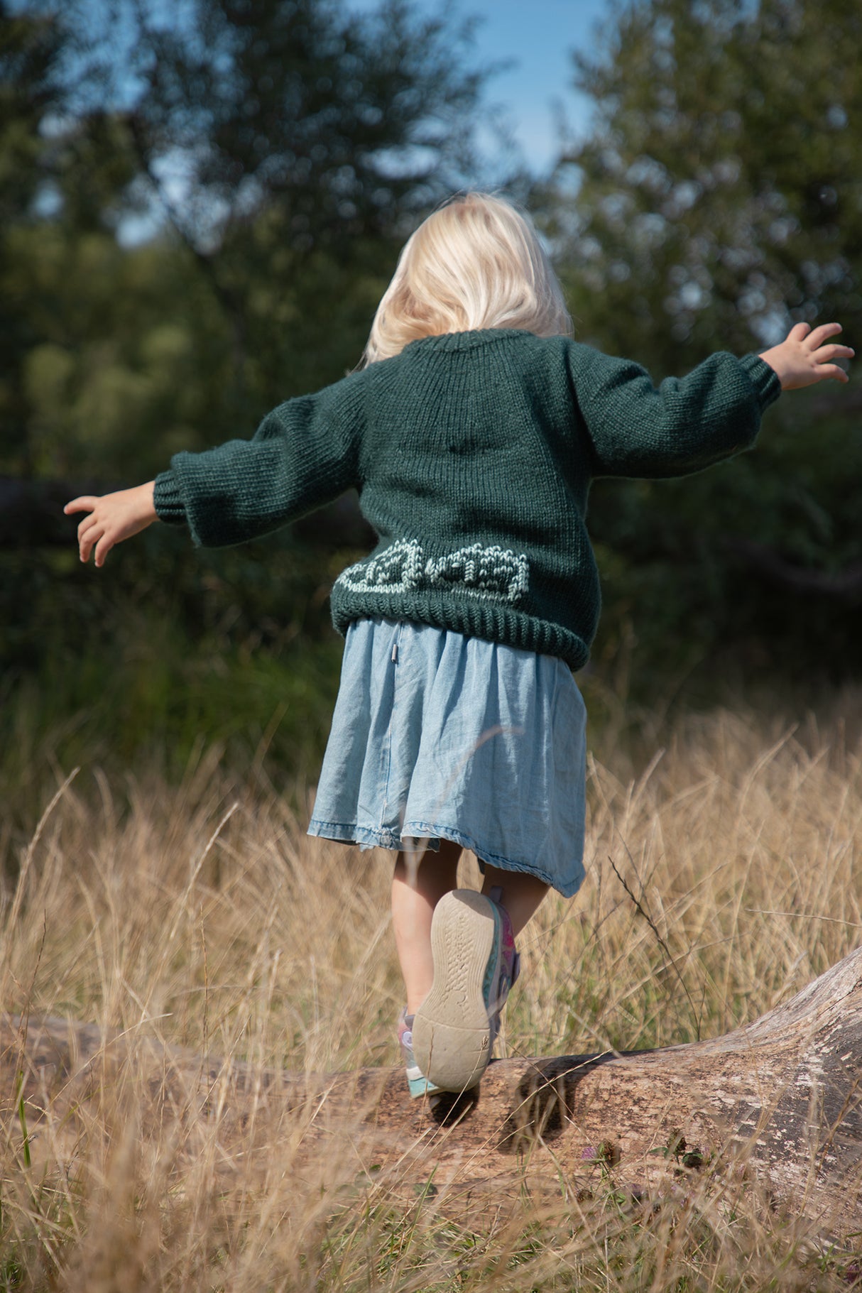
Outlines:
{"label": "child's straight bare standing leg, left one below the denim skirt", "polygon": [[405,855],[398,853],[392,878],[392,923],[401,972],[407,989],[407,1014],[412,1015],[430,992],[434,962],[430,950],[430,922],[443,893],[457,887],[460,844],[441,839],[439,852],[428,850],[416,873],[416,886],[408,882]]}

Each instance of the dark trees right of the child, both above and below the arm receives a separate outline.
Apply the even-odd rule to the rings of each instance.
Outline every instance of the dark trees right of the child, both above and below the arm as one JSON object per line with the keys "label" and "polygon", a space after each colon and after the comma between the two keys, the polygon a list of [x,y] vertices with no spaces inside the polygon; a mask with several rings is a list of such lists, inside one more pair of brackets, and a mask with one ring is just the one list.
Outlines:
{"label": "dark trees right of the child, both above and below the arm", "polygon": [[[543,200],[579,335],[655,379],[799,319],[862,336],[862,3],[638,0],[576,59],[594,105]],[[574,194],[574,195],[573,195]],[[783,397],[755,455],[598,485],[610,621],[653,659],[858,666],[853,390]],[[610,639],[605,639],[610,645]],[[698,644],[693,646],[693,644]]]}

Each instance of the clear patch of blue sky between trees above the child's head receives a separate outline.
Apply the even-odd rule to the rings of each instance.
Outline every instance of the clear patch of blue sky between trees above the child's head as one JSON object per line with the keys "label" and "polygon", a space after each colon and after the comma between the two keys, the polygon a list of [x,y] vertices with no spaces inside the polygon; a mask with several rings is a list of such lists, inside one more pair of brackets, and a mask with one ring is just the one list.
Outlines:
{"label": "clear patch of blue sky between trees above the child's head", "polygon": [[[376,0],[348,0],[354,9],[376,8]],[[419,12],[434,14],[441,0],[415,0]],[[505,109],[517,144],[532,171],[543,171],[557,153],[554,101],[580,132],[589,105],[571,89],[571,50],[589,49],[596,25],[607,13],[606,0],[452,0],[460,18],[476,16],[476,62],[512,61],[489,83],[490,103]]]}

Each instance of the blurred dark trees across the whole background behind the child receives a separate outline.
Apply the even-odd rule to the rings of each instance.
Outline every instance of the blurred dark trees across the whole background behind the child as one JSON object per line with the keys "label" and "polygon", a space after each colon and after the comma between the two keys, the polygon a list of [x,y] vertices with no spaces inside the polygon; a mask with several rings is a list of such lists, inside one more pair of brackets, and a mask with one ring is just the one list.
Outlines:
{"label": "blurred dark trees across the whole background behind the child", "polygon": [[[177,776],[202,737],[313,775],[355,526],[230,552],[155,526],[96,573],[56,500],[150,478],[340,378],[452,190],[526,202],[578,336],[657,381],[799,319],[839,318],[858,345],[861,48],[862,0],[616,4],[574,65],[591,128],[536,176],[503,137],[477,146],[492,69],[451,9],[0,0],[6,790],[50,759],[160,751]],[[786,396],[752,455],[597,482],[597,714],[858,674],[861,411],[853,385]]]}

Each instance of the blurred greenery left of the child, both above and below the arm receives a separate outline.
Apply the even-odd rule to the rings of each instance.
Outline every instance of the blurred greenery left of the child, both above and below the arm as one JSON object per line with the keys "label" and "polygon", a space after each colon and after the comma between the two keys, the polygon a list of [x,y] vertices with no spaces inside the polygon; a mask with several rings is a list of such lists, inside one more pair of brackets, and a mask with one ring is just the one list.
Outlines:
{"label": "blurred greenery left of the child, both above and below the arm", "polygon": [[[0,473],[133,484],[342,376],[406,225],[476,173],[472,57],[402,0],[0,0]],[[154,528],[102,577],[71,522],[67,551],[0,553],[9,740],[35,672],[40,712],[89,705],[115,743],[160,724],[182,759],[205,709],[253,750],[279,690],[271,749],[319,742],[339,560],[289,533],[178,538]]]}

